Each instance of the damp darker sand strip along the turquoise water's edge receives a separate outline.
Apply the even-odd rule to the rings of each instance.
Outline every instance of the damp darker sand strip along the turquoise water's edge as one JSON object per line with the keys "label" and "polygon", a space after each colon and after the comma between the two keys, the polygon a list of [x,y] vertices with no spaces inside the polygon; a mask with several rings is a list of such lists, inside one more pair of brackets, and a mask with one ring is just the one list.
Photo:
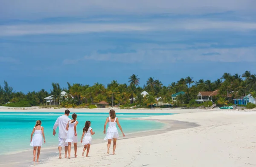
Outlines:
{"label": "damp darker sand strip along the turquoise water's edge", "polygon": [[[189,123],[189,122],[175,121],[175,120],[158,120],[158,119],[152,119],[152,118],[151,119],[126,118],[126,119],[158,121],[158,122],[161,122],[161,123],[165,124],[165,126],[161,129],[140,131],[140,132],[134,132],[134,133],[131,133],[131,134],[127,134],[125,137],[120,137],[118,139],[118,141],[127,140],[127,139],[131,139],[131,138],[139,138],[139,137],[143,137],[143,136],[150,136],[154,133],[161,134],[161,133],[169,132],[169,131],[172,131],[172,130],[180,130],[180,129],[193,128],[193,127],[198,127],[199,126],[196,123]],[[101,139],[96,139],[96,140],[93,140],[92,146],[97,145],[97,144],[102,144],[102,143],[106,143],[106,141],[101,140]],[[79,143],[78,144],[78,149],[81,149],[82,147],[83,146],[81,146],[80,143]],[[62,152],[63,152],[63,150],[62,150]],[[33,165],[33,162],[31,161],[31,159],[32,159],[31,154],[32,154],[32,150],[25,150],[25,151],[21,151],[21,152],[19,151],[17,153],[1,155],[2,158],[5,160],[5,161],[1,162],[1,164],[8,165],[9,167],[30,166],[30,165]],[[63,152],[63,155],[64,155],[64,152]],[[17,159],[15,159],[15,161],[13,161],[12,160],[13,157],[19,157],[18,159],[20,159],[20,161],[17,162]],[[41,164],[44,164],[50,158],[56,158],[56,157],[58,158],[57,147],[45,147],[45,148],[42,147],[41,148],[41,154],[40,154]]]}

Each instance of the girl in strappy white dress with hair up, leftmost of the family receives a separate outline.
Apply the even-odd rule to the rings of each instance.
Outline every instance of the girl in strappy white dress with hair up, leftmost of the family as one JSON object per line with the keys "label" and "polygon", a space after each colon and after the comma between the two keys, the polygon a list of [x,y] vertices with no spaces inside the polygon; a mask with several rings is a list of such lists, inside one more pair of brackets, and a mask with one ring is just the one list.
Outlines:
{"label": "girl in strappy white dress with hair up, leftmost of the family", "polygon": [[[40,120],[36,121],[35,127],[33,128],[33,131],[30,136],[30,146],[34,147],[33,148],[33,154],[34,154],[33,162],[35,162],[36,149],[38,150],[36,161],[37,162],[39,161],[40,150],[41,150],[41,146],[43,144],[42,135],[44,137],[44,127],[41,127],[41,124],[42,124],[42,122]],[[33,136],[33,134],[34,134],[34,136]],[[45,137],[44,137],[44,143],[45,143]]]}

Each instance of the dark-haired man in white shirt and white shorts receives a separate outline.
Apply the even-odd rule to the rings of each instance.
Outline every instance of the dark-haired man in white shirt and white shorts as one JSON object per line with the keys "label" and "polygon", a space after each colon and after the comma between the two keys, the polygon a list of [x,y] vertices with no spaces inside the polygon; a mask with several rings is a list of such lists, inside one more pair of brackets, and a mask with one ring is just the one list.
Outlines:
{"label": "dark-haired man in white shirt and white shorts", "polygon": [[53,126],[53,135],[55,136],[56,132],[55,130],[57,129],[57,127],[59,127],[59,132],[58,132],[58,150],[59,150],[59,158],[61,159],[61,149],[62,147],[65,147],[65,158],[67,158],[67,149],[68,149],[68,143],[65,142],[66,138],[67,138],[67,123],[68,121],[70,121],[70,118],[68,118],[70,114],[70,111],[68,109],[66,109],[65,111],[65,115],[62,115],[60,117],[57,118],[54,126]]}

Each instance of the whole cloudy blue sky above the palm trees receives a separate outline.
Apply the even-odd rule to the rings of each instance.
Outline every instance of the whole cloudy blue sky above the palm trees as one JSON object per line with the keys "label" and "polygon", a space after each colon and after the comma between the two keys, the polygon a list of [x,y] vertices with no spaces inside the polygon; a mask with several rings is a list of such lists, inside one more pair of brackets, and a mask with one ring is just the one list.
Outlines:
{"label": "whole cloudy blue sky above the palm trees", "polygon": [[0,85],[256,73],[255,0],[1,0]]}

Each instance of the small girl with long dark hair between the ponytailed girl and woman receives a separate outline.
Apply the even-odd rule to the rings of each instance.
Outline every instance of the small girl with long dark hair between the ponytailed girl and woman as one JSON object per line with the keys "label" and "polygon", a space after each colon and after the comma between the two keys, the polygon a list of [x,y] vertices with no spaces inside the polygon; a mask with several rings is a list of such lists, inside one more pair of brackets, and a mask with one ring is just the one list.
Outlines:
{"label": "small girl with long dark hair between the ponytailed girl and woman", "polygon": [[84,156],[84,151],[87,149],[86,157],[88,156],[88,153],[90,151],[90,145],[92,144],[92,136],[95,132],[93,132],[93,129],[90,127],[90,121],[85,122],[85,126],[83,129],[83,135],[81,137],[81,143],[84,145],[84,150],[82,153],[82,156]]}

